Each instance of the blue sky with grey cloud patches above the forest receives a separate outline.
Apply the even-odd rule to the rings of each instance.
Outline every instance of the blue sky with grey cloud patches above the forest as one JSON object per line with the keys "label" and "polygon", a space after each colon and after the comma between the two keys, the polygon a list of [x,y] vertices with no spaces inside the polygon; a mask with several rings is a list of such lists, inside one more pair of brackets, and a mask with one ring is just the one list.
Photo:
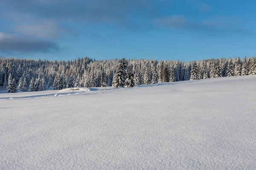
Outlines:
{"label": "blue sky with grey cloud patches above the forest", "polygon": [[256,54],[256,1],[0,0],[0,56],[199,60]]}

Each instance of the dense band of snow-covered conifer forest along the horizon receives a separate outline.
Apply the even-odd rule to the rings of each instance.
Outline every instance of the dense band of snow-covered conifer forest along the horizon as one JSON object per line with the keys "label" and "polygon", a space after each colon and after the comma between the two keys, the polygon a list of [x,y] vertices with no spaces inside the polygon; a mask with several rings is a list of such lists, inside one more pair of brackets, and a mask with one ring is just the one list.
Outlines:
{"label": "dense band of snow-covered conifer forest along the horizon", "polygon": [[156,59],[71,61],[0,58],[0,89],[9,93],[61,90],[71,87],[113,86],[177,82],[215,77],[256,75],[256,57],[158,61]]}

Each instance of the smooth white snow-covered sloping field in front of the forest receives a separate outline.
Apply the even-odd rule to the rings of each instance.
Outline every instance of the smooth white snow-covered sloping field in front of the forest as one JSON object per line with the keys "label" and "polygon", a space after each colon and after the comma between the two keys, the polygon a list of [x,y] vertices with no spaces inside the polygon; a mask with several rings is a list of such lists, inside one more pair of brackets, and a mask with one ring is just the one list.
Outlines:
{"label": "smooth white snow-covered sloping field in front of the forest", "polygon": [[241,76],[0,94],[0,169],[255,170],[255,87]]}

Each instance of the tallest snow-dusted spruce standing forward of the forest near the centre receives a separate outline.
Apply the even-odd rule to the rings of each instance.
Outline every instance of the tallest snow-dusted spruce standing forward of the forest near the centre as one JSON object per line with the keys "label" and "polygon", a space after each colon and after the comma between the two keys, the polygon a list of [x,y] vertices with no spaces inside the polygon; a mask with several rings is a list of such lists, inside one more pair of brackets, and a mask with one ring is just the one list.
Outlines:
{"label": "tallest snow-dusted spruce standing forward of the forest near the centre", "polygon": [[121,59],[121,62],[116,68],[115,76],[112,83],[114,88],[122,88],[125,86],[126,69],[127,69],[127,64],[125,62],[125,59]]}

